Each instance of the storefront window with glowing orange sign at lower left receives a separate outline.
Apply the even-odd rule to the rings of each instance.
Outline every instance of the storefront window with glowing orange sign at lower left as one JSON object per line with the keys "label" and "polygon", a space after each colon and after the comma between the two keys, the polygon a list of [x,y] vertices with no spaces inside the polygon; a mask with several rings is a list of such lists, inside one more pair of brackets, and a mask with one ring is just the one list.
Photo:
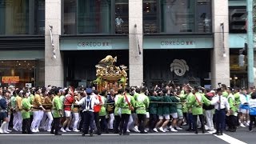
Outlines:
{"label": "storefront window with glowing orange sign at lower left", "polygon": [[0,61],[0,86],[44,86],[44,62]]}

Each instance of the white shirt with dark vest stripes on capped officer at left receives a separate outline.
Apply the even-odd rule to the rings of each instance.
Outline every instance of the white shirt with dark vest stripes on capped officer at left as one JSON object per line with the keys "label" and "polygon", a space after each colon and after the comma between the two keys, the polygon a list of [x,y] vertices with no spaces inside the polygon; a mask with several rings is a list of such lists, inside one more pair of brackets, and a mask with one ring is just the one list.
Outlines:
{"label": "white shirt with dark vest stripes on capped officer at left", "polygon": [[84,112],[84,111],[94,112],[94,105],[99,104],[98,98],[95,98],[94,95],[90,95],[90,99],[88,99],[89,102],[86,102],[87,97],[88,96],[82,98],[79,102],[75,102],[75,103],[77,103],[80,106],[85,106],[84,110],[82,110],[82,112]]}

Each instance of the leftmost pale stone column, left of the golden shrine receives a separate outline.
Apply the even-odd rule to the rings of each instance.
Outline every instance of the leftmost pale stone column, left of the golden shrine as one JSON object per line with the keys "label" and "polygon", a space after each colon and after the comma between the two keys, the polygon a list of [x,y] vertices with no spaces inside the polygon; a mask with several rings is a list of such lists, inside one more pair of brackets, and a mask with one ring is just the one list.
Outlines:
{"label": "leftmost pale stone column, left of the golden shrine", "polygon": [[[63,55],[59,50],[59,35],[62,28],[62,1],[46,0],[46,22],[45,22],[45,85],[63,86],[64,68]],[[53,26],[53,39],[56,58],[53,56],[53,48],[50,41],[50,28]]]}

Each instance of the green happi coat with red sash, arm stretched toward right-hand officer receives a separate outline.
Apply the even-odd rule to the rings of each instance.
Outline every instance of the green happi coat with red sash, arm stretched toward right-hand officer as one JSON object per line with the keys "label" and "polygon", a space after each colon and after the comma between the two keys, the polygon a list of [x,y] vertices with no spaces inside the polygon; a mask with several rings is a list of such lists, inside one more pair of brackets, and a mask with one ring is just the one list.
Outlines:
{"label": "green happi coat with red sash, arm stretched toward right-hand officer", "polygon": [[[201,105],[196,100],[196,97],[198,98],[198,101],[201,103]],[[202,94],[197,92],[190,96],[187,106],[192,109],[193,115],[199,115],[199,114],[202,114],[202,104],[203,103],[205,103],[206,106],[210,105],[210,101],[205,96],[203,96]]]}

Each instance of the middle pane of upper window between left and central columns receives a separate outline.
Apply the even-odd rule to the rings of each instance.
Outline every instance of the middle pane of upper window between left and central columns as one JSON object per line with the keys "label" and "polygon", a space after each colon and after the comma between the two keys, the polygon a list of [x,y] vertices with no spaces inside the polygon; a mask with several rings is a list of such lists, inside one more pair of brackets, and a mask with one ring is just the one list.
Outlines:
{"label": "middle pane of upper window between left and central columns", "polygon": [[109,34],[110,31],[110,0],[78,0],[78,34]]}

